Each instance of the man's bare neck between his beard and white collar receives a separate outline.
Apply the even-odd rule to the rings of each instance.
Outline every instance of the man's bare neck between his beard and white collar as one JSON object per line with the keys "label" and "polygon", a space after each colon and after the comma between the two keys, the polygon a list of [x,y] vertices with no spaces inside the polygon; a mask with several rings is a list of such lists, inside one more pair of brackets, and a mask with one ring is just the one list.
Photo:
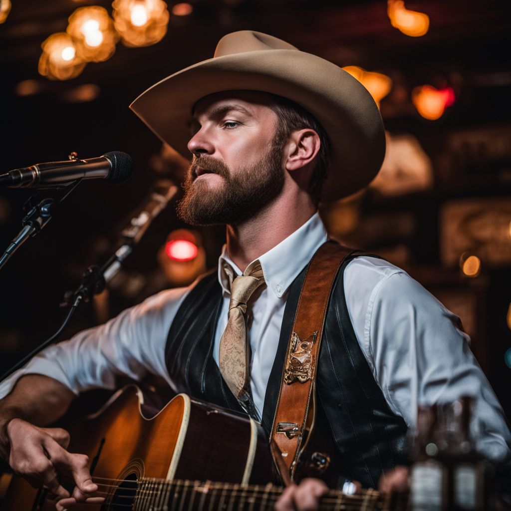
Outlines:
{"label": "man's bare neck between his beard and white collar", "polygon": [[316,212],[309,197],[274,201],[258,215],[237,225],[227,225],[227,253],[241,271],[285,240]]}

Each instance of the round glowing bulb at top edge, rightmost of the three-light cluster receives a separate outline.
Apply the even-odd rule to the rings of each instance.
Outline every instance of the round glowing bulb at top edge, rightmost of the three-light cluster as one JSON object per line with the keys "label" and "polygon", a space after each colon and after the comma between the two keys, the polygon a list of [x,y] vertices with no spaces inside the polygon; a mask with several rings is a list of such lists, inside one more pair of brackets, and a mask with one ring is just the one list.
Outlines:
{"label": "round glowing bulb at top edge, rightmost of the three-light cluster", "polygon": [[167,33],[169,11],[162,0],[114,0],[115,30],[126,46],[149,46]]}

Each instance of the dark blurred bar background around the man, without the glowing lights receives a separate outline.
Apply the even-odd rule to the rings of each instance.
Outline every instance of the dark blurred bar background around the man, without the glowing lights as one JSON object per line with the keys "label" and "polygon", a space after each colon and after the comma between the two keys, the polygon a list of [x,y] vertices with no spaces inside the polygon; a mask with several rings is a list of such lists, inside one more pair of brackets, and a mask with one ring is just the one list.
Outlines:
{"label": "dark blurred bar background around the man, without the glowing lights", "polygon": [[[508,2],[407,2],[408,9],[430,16],[430,30],[420,38],[407,37],[391,27],[384,0],[197,0],[192,4],[191,15],[171,15],[168,33],[159,43],[146,48],[126,48],[119,43],[107,62],[90,63],[79,77],[64,82],[38,75],[40,44],[51,33],[65,30],[74,9],[91,3],[15,2],[7,21],[0,25],[0,171],[65,159],[71,151],[89,158],[121,150],[135,161],[135,173],[123,185],[83,182],[43,232],[0,271],[2,370],[56,330],[63,318],[58,304],[64,291],[79,284],[87,266],[106,260],[154,179],[170,175],[172,166],[156,172],[161,143],[128,105],[156,81],[210,58],[224,34],[251,29],[283,38],[341,66],[359,65],[392,78],[392,91],[381,105],[386,128],[392,134],[417,138],[432,161],[434,184],[428,190],[393,198],[374,190],[358,197],[356,228],[345,230],[343,241],[404,266],[440,299],[446,297],[448,307],[453,296],[462,309],[470,300],[470,317],[462,320],[472,324],[473,351],[509,415],[511,369],[504,363],[504,354],[511,347],[506,324],[511,258],[504,257],[498,264],[483,259],[480,275],[469,279],[457,265],[446,264],[440,257],[445,221],[440,212],[445,204],[460,198],[487,198],[490,203],[495,199],[496,204],[505,204],[511,193]],[[108,2],[96,5],[111,13]],[[17,84],[28,79],[37,80],[40,91],[18,96]],[[450,85],[456,93],[455,104],[437,121],[420,117],[410,102],[413,87],[426,83]],[[70,101],[73,91],[85,84],[97,85],[99,96],[89,102]],[[454,151],[449,141],[465,132],[477,132],[487,143],[467,143],[461,152]],[[496,138],[502,141],[498,150],[491,145]],[[0,250],[17,234],[22,206],[31,195],[26,190],[0,191]],[[340,213],[335,208],[325,211],[330,212],[329,226],[338,232],[335,227],[343,221],[342,206]],[[507,215],[506,211],[502,214]],[[378,219],[385,228],[375,235]],[[402,229],[407,219],[410,227]],[[126,263],[124,282],[110,292],[108,316],[164,286],[158,277],[156,252],[170,231],[179,227],[173,206],[153,223]],[[491,222],[481,228],[491,230]],[[223,243],[223,229],[200,229],[200,234],[207,268],[212,268]],[[90,304],[83,305],[63,338],[100,318]]]}

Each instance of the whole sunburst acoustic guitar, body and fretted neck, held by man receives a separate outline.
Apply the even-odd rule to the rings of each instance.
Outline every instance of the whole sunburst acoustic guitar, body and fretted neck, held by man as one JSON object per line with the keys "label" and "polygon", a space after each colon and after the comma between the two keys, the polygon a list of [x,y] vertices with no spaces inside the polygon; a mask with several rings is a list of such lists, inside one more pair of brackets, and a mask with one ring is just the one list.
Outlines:
{"label": "whole sunburst acoustic guitar, body and fretted neck, held by man", "polygon": [[[70,452],[89,456],[92,480],[105,502],[90,511],[265,511],[283,488],[261,426],[242,414],[179,394],[157,413],[131,385],[72,432]],[[64,482],[63,482],[64,484]],[[14,477],[3,511],[55,508],[44,489]],[[320,509],[398,509],[400,498],[365,490],[332,490]]]}

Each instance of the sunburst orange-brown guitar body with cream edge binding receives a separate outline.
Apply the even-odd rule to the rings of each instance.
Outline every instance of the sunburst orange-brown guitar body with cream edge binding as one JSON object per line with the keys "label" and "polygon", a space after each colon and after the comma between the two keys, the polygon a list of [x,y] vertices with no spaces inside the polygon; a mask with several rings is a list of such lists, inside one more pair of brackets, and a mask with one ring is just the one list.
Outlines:
{"label": "sunburst orange-brown guitar body with cream edge binding", "polygon": [[[73,429],[69,451],[89,456],[93,480],[105,481],[100,490],[107,493],[107,501],[119,492],[119,485],[107,479],[264,484],[272,478],[264,432],[249,417],[185,394],[153,414],[144,407],[142,392],[134,385],[114,394],[102,410]],[[19,477],[13,478],[2,505],[4,511],[54,507],[44,491],[34,490]],[[102,507],[118,506],[76,508],[99,511]]]}

